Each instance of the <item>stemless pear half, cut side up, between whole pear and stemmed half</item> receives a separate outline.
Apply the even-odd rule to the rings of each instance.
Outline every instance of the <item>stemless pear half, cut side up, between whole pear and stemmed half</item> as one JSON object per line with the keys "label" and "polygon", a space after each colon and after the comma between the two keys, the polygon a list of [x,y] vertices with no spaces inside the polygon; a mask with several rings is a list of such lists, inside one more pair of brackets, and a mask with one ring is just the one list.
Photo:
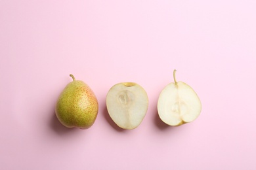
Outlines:
{"label": "stemless pear half, cut side up, between whole pear and stemmed half", "polygon": [[117,126],[123,129],[135,129],[148,110],[148,95],[135,82],[118,83],[108,91],[106,107]]}

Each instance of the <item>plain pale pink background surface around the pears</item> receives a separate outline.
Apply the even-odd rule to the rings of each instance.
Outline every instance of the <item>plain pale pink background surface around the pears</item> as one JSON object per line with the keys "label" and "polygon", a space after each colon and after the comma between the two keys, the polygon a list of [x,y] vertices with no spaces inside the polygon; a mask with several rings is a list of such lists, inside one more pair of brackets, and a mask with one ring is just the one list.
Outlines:
{"label": "plain pale pink background surface around the pears", "polygon": [[[0,1],[0,169],[256,169],[256,1]],[[202,112],[161,122],[161,90],[177,80]],[[72,73],[91,86],[90,129],[54,115]],[[118,82],[148,93],[137,129],[106,111]]]}

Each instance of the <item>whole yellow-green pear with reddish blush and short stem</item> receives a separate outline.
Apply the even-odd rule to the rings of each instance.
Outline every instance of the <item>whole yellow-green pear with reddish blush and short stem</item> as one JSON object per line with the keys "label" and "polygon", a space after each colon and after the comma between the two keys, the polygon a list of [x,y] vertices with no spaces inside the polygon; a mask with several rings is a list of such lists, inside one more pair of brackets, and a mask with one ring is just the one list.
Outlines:
{"label": "whole yellow-green pear with reddish blush and short stem", "polygon": [[85,82],[70,82],[60,93],[55,107],[58,120],[66,127],[87,129],[93,126],[98,114],[98,101],[95,93]]}

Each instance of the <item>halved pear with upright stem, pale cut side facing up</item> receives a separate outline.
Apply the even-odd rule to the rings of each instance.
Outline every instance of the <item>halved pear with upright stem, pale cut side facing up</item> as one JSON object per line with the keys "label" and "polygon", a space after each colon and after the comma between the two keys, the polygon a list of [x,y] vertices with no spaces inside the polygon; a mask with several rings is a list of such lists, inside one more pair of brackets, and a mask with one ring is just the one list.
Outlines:
{"label": "halved pear with upright stem, pale cut side facing up", "polygon": [[173,71],[175,82],[171,82],[160,93],[158,114],[165,124],[180,126],[198,118],[202,105],[194,90],[184,82],[177,82],[176,70]]}

